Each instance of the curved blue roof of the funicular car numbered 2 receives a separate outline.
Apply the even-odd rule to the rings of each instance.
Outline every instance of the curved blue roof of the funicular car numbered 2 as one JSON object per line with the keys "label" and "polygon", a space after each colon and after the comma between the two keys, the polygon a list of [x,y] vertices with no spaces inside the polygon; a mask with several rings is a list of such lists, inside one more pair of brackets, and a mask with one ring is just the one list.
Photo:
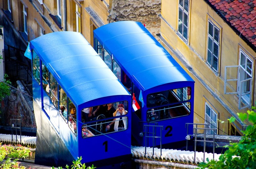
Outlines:
{"label": "curved blue roof of the funicular car numbered 2", "polygon": [[94,36],[144,90],[174,82],[194,83],[140,22],[113,22],[95,29]]}

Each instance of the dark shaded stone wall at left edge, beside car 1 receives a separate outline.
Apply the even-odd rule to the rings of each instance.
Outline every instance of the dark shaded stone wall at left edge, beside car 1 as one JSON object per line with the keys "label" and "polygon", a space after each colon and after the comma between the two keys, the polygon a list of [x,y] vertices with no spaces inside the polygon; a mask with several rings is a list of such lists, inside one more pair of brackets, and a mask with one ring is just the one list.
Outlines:
{"label": "dark shaded stone wall at left edge, beside car 1", "polygon": [[12,89],[11,95],[5,97],[1,102],[2,113],[0,114],[0,126],[3,129],[10,130],[10,119],[12,115],[21,115],[22,131],[36,132],[32,97],[24,90],[20,81],[17,81],[17,86],[17,89]]}

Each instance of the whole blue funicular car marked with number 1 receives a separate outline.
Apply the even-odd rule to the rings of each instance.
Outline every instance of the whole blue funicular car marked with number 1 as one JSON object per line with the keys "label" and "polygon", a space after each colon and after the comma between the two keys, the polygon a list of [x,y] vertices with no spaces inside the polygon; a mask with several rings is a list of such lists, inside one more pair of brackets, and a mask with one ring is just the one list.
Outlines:
{"label": "whole blue funicular car marked with number 1", "polygon": [[[82,34],[49,33],[31,40],[29,47],[37,125],[35,163],[65,166],[80,156],[82,163],[97,168],[119,168],[129,162],[131,94]],[[115,108],[111,112],[106,105]],[[118,107],[123,114],[114,117]],[[108,128],[110,123],[124,127]]]}

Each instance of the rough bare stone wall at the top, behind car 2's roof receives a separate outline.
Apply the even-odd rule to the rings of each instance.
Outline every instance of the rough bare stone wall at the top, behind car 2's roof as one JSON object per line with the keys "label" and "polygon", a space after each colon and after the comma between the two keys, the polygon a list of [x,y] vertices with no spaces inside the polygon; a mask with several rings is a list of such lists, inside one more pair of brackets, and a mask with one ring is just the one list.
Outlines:
{"label": "rough bare stone wall at the top, behind car 2's roof", "polygon": [[156,34],[160,33],[161,20],[158,15],[161,14],[161,0],[113,0],[109,14],[109,22],[131,20],[145,23],[148,31],[158,39]]}

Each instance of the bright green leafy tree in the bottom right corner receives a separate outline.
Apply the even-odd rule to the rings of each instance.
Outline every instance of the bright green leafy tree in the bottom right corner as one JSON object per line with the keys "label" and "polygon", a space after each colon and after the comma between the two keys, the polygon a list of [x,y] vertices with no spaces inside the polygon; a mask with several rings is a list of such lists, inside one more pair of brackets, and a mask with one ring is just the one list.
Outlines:
{"label": "bright green leafy tree in the bottom right corner", "polygon": [[[238,113],[239,119],[245,121],[248,119],[252,125],[249,125],[245,131],[241,131],[244,136],[238,143],[231,143],[227,146],[228,150],[224,152],[218,161],[206,159],[206,163],[202,162],[199,168],[208,169],[249,169],[256,168],[256,107],[248,110],[247,113]],[[235,118],[229,119],[234,122]]]}

